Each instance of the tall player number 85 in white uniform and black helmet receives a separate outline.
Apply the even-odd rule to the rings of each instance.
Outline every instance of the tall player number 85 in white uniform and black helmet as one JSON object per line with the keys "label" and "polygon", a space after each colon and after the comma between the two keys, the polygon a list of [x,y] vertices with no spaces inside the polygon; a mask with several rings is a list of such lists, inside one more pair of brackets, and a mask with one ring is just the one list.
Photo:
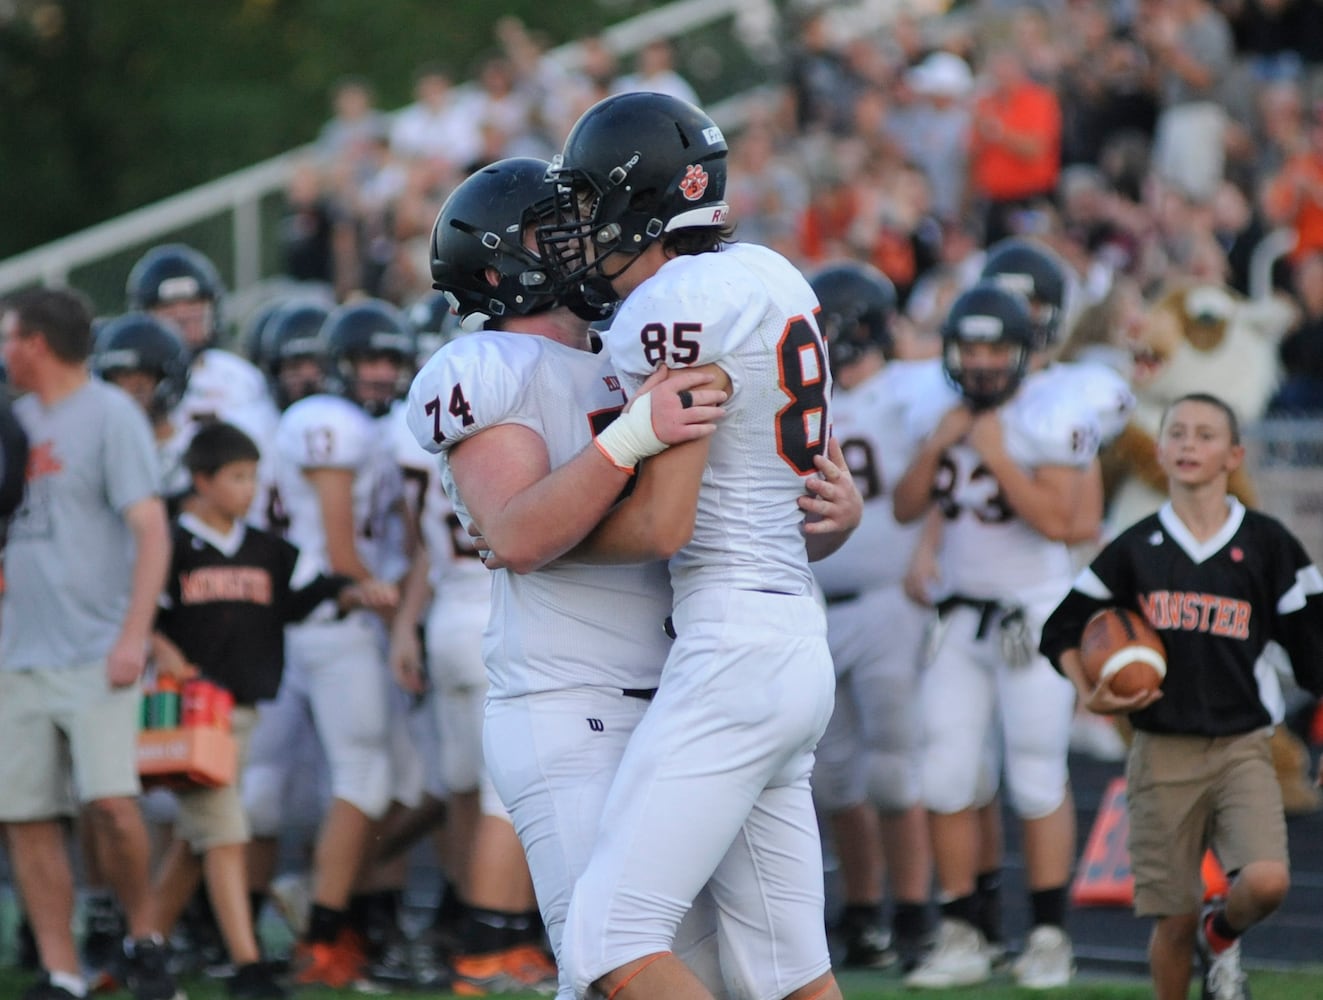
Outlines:
{"label": "tall player number 85 in white uniform and black helmet", "polygon": [[744,919],[721,943],[749,995],[839,997],[808,784],[835,676],[799,509],[831,431],[818,300],[779,254],[726,245],[726,142],[692,104],[607,98],[553,173],[542,255],[620,300],[605,343],[626,392],[665,366],[730,394],[716,433],[685,446],[701,487],[669,561],[676,640],[574,889],[569,978],[579,996],[710,996],[672,951],[709,885]]}

